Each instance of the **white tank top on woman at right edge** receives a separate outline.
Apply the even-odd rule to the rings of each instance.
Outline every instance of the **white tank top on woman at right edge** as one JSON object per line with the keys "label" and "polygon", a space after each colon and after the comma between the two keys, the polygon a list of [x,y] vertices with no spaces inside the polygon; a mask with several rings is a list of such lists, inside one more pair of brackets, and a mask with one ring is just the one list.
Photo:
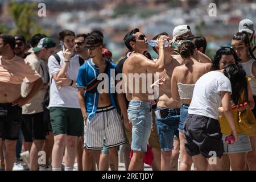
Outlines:
{"label": "white tank top on woman at right edge", "polygon": [[251,78],[251,81],[250,81],[251,92],[253,93],[254,96],[256,96],[256,78],[251,72],[254,61],[256,60],[251,59],[250,61],[247,61],[246,63],[241,63],[241,64],[243,69],[245,70],[246,76]]}

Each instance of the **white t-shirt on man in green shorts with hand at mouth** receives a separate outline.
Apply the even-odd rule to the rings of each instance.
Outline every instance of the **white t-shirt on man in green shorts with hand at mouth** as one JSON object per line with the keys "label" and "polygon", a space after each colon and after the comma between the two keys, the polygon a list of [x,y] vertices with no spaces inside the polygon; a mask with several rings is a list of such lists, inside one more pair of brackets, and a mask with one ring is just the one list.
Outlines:
{"label": "white t-shirt on man in green shorts with hand at mouth", "polygon": [[[63,67],[64,63],[63,52],[59,51],[57,52],[57,55],[60,56],[60,64],[57,62],[54,56],[50,56],[48,59],[49,76],[51,81],[49,107],[80,108],[77,97],[77,88],[68,85],[58,89],[57,85],[55,84],[55,80],[52,78],[52,75],[60,72],[60,69]],[[71,80],[76,81],[79,67],[79,56],[75,55],[71,58],[67,69],[67,75]]]}

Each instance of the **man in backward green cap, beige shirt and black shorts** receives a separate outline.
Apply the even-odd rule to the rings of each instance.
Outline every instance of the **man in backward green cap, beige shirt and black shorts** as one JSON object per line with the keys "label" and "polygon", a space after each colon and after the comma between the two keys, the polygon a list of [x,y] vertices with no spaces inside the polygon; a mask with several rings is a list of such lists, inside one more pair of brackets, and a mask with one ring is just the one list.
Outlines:
{"label": "man in backward green cap, beige shirt and black shorts", "polygon": [[[30,64],[32,69],[39,73],[43,82],[47,82],[47,76],[44,74],[41,61],[47,61],[55,51],[56,43],[50,38],[43,38],[37,47],[32,50],[34,53],[28,55],[25,62]],[[26,97],[30,93],[33,84],[26,79],[22,83],[22,96]],[[24,140],[30,142],[30,170],[38,170],[38,152],[42,150],[44,140],[46,139],[46,126],[43,119],[43,101],[47,87],[42,86],[38,93],[27,104],[22,106],[22,133]],[[33,143],[32,143],[33,142]]]}

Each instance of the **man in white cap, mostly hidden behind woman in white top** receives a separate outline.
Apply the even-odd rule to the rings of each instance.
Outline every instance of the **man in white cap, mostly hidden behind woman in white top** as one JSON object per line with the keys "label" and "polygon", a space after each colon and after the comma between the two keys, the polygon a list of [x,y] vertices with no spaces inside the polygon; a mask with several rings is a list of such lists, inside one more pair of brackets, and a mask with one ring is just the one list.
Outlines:
{"label": "man in white cap, mostly hidden behind woman in white top", "polygon": [[[190,27],[187,24],[181,24],[177,27],[174,28],[174,31],[172,31],[172,42],[179,42],[181,40],[187,40],[188,36],[191,36],[192,32]],[[199,61],[201,63],[211,63],[212,61],[210,60],[210,58],[205,55],[202,52],[198,52],[199,53]],[[173,54],[174,58],[176,60],[179,61],[179,63],[181,63],[182,61],[184,62],[184,60],[181,58],[181,56],[179,55],[179,51],[177,51],[177,49],[175,49],[175,53]]]}

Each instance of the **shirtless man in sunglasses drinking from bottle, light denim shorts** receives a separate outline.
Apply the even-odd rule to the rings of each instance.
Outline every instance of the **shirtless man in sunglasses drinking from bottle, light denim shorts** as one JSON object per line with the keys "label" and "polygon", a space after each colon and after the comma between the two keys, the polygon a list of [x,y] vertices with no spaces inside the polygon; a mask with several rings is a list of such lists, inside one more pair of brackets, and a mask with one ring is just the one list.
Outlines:
{"label": "shirtless man in sunglasses drinking from bottle, light denim shorts", "polygon": [[[126,97],[130,101],[127,115],[133,126],[131,149],[134,153],[133,158],[131,158],[129,170],[139,170],[143,156],[147,151],[148,138],[150,137],[152,124],[151,101],[149,100],[150,95],[148,92],[141,92],[144,89],[142,88],[142,80],[139,80],[139,84],[135,85],[133,80],[129,80],[129,73],[132,75],[138,73],[138,75],[142,74],[142,76],[144,74],[147,79],[147,70],[162,72],[164,67],[164,39],[158,39],[159,58],[154,62],[147,59],[141,53],[142,49],[147,48],[147,38],[138,28],[128,32],[125,38],[126,47],[133,50],[130,57],[123,64],[123,73],[126,75],[126,79],[124,79],[127,90]],[[147,82],[147,80],[143,80],[143,82]],[[133,88],[139,88],[140,92],[136,93],[134,90],[131,90],[129,88],[131,84],[133,84]]]}

